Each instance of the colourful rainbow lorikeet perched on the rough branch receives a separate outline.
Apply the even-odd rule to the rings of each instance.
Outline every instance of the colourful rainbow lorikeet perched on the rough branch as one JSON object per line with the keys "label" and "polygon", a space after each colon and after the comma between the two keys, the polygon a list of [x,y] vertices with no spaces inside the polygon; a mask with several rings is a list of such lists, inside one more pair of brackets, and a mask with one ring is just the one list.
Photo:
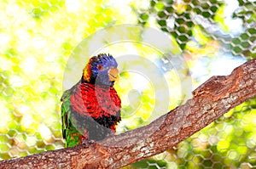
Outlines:
{"label": "colourful rainbow lorikeet perched on the rough branch", "polygon": [[102,140],[115,132],[121,120],[121,100],[113,88],[119,76],[112,55],[90,58],[81,80],[61,97],[62,135],[66,147],[84,140]]}

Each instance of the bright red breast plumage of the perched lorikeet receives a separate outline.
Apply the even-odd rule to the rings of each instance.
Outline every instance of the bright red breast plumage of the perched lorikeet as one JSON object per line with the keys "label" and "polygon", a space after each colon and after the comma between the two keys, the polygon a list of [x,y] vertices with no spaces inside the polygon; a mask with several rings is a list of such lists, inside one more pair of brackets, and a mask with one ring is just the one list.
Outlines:
{"label": "bright red breast plumage of the perched lorikeet", "polygon": [[121,100],[113,87],[90,83],[79,83],[70,101],[74,111],[94,118],[117,115],[121,107]]}

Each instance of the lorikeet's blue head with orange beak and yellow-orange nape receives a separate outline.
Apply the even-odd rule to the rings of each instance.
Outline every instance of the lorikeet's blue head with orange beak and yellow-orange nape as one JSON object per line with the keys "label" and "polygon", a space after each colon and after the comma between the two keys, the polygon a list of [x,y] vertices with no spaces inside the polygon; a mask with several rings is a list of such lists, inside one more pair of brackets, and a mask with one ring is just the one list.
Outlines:
{"label": "lorikeet's blue head with orange beak and yellow-orange nape", "polygon": [[93,56],[84,67],[82,81],[112,87],[119,77],[117,66],[116,60],[110,54]]}

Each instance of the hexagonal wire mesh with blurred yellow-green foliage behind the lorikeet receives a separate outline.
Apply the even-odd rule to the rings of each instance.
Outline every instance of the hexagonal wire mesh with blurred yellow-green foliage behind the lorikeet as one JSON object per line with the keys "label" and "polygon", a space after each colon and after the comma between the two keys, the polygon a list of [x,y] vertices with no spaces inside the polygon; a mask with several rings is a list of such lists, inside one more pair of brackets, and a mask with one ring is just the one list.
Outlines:
{"label": "hexagonal wire mesh with blurred yellow-green foliage behind the lorikeet", "polygon": [[[63,75],[75,70],[76,75],[67,77],[73,85],[82,74],[75,64],[67,66],[67,62],[84,39],[88,52],[98,42],[96,32],[106,27],[110,30],[104,34],[106,46],[101,51],[148,59],[160,67],[170,93],[167,103],[162,101],[166,98],[155,99],[155,91],[166,90],[162,84],[152,85],[150,79],[125,71],[131,64],[147,66],[148,62],[120,64],[122,73],[115,87],[122,99],[123,120],[118,132],[147,125],[166,113],[154,110],[154,106],[165,103],[172,110],[189,99],[187,88],[197,87],[212,75],[227,75],[256,57],[254,0],[0,3],[0,160],[63,148],[60,98],[63,88],[67,89]],[[140,29],[111,29],[122,24]],[[167,45],[159,42],[166,45],[164,52],[140,43],[148,27],[171,39]],[[113,37],[137,42],[108,44]],[[85,65],[89,57],[74,60]],[[183,60],[185,65],[179,66]],[[190,80],[192,85],[183,85]],[[255,131],[256,101],[251,99],[172,149],[125,167],[256,168]]]}

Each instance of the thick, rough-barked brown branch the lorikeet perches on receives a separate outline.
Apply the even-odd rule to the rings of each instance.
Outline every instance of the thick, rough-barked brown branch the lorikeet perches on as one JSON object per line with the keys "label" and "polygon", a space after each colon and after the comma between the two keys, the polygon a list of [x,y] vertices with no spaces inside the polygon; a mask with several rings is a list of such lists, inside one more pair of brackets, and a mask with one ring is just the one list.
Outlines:
{"label": "thick, rough-barked brown branch the lorikeet perches on", "polygon": [[193,92],[186,104],[146,127],[106,138],[87,147],[58,149],[9,161],[0,168],[119,168],[189,138],[236,105],[256,96],[256,59],[237,67],[230,76],[212,76]]}

